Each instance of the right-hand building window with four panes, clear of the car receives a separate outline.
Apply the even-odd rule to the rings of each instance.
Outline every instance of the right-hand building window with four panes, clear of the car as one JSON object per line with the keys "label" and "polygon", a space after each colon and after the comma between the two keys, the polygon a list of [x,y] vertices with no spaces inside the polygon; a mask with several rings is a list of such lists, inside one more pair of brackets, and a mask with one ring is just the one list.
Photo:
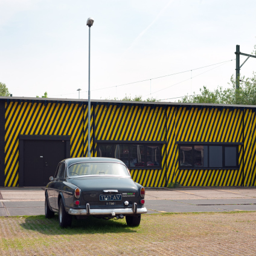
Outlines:
{"label": "right-hand building window with four panes, clear of the car", "polygon": [[179,168],[238,168],[238,146],[181,144]]}

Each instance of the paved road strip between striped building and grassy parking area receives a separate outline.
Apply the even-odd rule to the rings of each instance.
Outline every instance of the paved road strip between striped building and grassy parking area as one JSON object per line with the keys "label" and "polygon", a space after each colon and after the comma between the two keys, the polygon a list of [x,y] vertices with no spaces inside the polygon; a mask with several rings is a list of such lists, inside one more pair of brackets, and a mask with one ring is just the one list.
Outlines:
{"label": "paved road strip between striped building and grassy parking area", "polygon": [[[147,188],[148,213],[256,211],[256,187]],[[44,188],[0,188],[0,216],[44,214]]]}

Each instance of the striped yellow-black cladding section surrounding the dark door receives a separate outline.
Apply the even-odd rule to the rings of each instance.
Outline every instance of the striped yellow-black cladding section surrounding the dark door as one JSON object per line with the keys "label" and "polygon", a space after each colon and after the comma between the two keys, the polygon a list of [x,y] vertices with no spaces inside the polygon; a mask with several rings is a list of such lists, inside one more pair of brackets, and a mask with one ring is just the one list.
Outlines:
{"label": "striped yellow-black cladding section surrounding the dark door", "polygon": [[19,135],[70,135],[71,157],[85,155],[86,111],[80,104],[5,103],[5,186],[19,185]]}

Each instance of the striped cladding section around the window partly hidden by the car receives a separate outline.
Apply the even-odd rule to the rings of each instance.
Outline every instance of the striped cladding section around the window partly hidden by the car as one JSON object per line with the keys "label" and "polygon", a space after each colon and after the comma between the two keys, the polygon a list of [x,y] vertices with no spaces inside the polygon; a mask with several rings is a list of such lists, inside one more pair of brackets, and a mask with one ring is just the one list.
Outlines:
{"label": "striped cladding section around the window partly hidden by the car", "polygon": [[[165,141],[165,107],[98,105],[95,107],[95,139],[110,141]],[[97,144],[95,145],[97,146]],[[166,145],[161,170],[130,170],[135,182],[146,187],[166,185]]]}

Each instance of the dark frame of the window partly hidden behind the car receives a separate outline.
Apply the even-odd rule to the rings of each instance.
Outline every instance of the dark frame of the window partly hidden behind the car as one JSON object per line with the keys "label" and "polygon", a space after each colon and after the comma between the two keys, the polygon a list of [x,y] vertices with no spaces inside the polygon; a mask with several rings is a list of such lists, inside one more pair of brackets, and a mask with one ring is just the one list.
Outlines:
{"label": "dark frame of the window partly hidden behind the car", "polygon": [[[111,145],[112,146],[112,149],[111,149],[111,155],[112,157],[114,158],[115,156],[115,146],[116,145],[125,145],[125,146],[128,146],[128,149],[129,149],[129,156],[128,156],[128,162],[129,164],[127,165],[127,167],[130,169],[130,170],[161,170],[162,169],[162,144],[164,144],[164,142],[145,142],[145,141],[129,141],[129,142],[126,142],[126,141],[111,141],[111,142],[108,142],[108,141],[100,141],[100,142],[97,142],[97,156],[100,155],[99,153],[99,148],[100,146],[102,145]],[[132,155],[132,146],[136,146],[136,145],[139,145],[139,146],[143,146],[144,147],[144,166],[130,166],[130,156]],[[159,147],[159,165],[146,165],[147,164],[147,146],[158,146]],[[121,160],[121,159],[120,159]]]}

